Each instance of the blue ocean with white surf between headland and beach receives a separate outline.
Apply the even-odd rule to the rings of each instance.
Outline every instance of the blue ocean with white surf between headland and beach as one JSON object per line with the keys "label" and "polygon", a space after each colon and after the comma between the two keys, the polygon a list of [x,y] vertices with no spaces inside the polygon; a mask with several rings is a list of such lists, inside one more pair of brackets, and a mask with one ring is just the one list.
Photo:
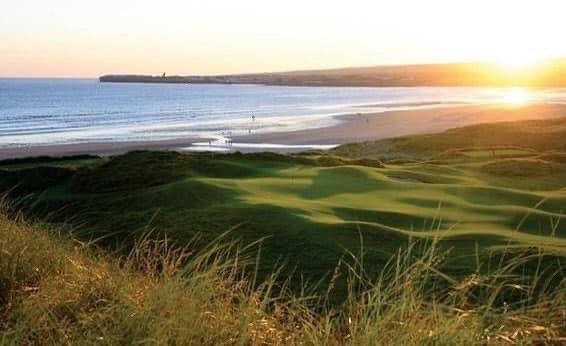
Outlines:
{"label": "blue ocean with white surf between headland and beach", "polygon": [[[502,88],[113,84],[0,79],[0,148],[150,141],[331,126],[339,115],[507,102]],[[566,89],[529,91],[566,103]],[[507,101],[506,101],[507,100]]]}

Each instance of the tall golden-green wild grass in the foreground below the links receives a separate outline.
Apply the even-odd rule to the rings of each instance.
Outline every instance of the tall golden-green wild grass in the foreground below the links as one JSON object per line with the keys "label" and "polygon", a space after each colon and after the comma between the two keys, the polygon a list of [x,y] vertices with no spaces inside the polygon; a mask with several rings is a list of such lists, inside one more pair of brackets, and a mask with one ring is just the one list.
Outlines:
{"label": "tall golden-green wild grass in the foreground below the links", "polygon": [[[257,282],[257,259],[222,239],[193,253],[148,236],[117,256],[65,234],[0,213],[1,344],[566,341],[563,259],[540,251],[494,254],[454,278],[436,242],[410,242],[377,278],[350,256],[311,295],[291,292],[278,271]],[[347,299],[330,304],[338,282]]]}

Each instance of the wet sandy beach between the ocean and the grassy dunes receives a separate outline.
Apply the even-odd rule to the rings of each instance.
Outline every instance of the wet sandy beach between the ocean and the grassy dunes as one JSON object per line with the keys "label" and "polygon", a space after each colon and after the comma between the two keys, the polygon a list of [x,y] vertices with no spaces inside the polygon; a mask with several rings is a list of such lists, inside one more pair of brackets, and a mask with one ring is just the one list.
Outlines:
{"label": "wet sandy beach between the ocean and the grassy dunes", "polygon": [[[234,137],[235,143],[285,145],[343,144],[411,134],[440,132],[466,125],[566,116],[566,105],[538,104],[512,106],[464,106],[347,115],[336,126],[293,132],[252,134]],[[151,142],[103,142],[0,149],[0,159],[31,156],[68,156],[79,154],[115,155],[132,150],[164,150],[189,147],[203,139],[183,138]],[[245,149],[243,151],[265,151]],[[269,149],[289,152],[293,149]],[[296,151],[296,150],[295,150]]]}

